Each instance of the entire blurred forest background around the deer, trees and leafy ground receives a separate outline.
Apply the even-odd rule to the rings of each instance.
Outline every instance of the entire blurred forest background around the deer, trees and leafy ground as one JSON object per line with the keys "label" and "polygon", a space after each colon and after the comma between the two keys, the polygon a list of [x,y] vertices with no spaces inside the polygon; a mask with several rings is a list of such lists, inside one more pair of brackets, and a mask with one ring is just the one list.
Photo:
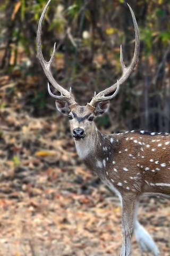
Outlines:
{"label": "entire blurred forest background around the deer, trees and leafy ground", "polygon": [[[56,113],[36,58],[45,3],[0,3],[0,255],[118,255],[117,199],[78,159],[67,118]],[[170,132],[170,3],[128,3],[140,30],[139,63],[96,123],[106,132]],[[46,59],[55,42],[53,74],[85,104],[120,77],[120,44],[125,63],[131,61],[130,11],[122,0],[52,0],[43,27]],[[169,255],[168,201],[142,200],[142,222],[154,224],[150,232]]]}

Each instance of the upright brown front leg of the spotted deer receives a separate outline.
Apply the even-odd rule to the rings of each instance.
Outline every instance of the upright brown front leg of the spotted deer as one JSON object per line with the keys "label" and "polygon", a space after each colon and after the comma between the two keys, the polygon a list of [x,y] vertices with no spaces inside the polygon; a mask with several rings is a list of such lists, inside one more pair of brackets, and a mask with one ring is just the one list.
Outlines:
{"label": "upright brown front leg of the spotted deer", "polygon": [[131,256],[131,235],[135,215],[137,196],[126,194],[122,196],[122,248],[121,256]]}

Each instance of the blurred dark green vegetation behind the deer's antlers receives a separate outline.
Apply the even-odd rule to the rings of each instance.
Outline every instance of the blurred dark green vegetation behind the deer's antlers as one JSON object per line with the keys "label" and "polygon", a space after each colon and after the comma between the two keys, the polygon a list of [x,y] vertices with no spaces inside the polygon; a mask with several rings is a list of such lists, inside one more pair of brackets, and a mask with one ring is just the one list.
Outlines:
{"label": "blurred dark green vegetation behind the deer's antlers", "polygon": [[[14,87],[6,89],[9,104],[15,97],[27,111],[40,116],[54,114],[36,58],[36,31],[45,4],[46,0],[5,0],[0,4],[1,76],[8,75],[14,82]],[[114,130],[170,131],[170,2],[130,0],[129,4],[140,29],[140,61],[111,102],[110,118],[104,117],[99,125]],[[83,104],[94,91],[111,85],[121,75],[120,44],[127,64],[132,58],[132,19],[122,0],[52,0],[43,31],[47,59],[53,44],[58,43],[53,64],[57,81],[72,86]],[[3,100],[1,107],[5,108]]]}

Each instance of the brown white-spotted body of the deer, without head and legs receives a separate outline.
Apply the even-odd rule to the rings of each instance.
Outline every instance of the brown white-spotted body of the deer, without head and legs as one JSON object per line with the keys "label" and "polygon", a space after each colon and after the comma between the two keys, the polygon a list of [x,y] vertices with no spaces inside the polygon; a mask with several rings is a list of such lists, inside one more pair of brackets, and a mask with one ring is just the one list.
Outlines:
{"label": "brown white-spotted body of the deer, without head and legs", "polygon": [[85,142],[86,149],[84,141],[75,145],[89,169],[120,193],[170,195],[170,135],[154,134],[103,135],[96,130]]}

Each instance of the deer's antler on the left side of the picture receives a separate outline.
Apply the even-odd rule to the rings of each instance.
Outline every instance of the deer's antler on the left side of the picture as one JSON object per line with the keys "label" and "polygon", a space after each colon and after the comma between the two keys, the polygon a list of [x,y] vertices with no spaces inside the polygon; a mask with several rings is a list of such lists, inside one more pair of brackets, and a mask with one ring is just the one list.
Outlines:
{"label": "deer's antler on the left side of the picture", "polygon": [[50,57],[49,61],[46,61],[43,57],[43,53],[41,50],[41,33],[42,33],[42,27],[43,27],[43,19],[44,16],[46,14],[46,11],[48,9],[48,5],[50,4],[49,0],[43,10],[43,13],[41,14],[41,18],[39,20],[39,24],[38,24],[38,30],[37,30],[37,57],[41,63],[41,66],[44,70],[44,73],[46,75],[46,77],[48,78],[48,81],[50,84],[52,84],[54,86],[54,88],[59,91],[61,93],[61,95],[54,95],[51,91],[50,91],[50,87],[49,87],[49,83],[48,83],[48,92],[49,94],[54,97],[55,99],[58,100],[65,100],[69,103],[69,105],[73,105],[75,104],[75,100],[74,100],[74,96],[72,94],[72,91],[70,89],[70,91],[65,90],[60,84],[58,84],[53,75],[52,75],[52,71],[50,70],[51,64],[53,62],[53,59],[55,57],[55,52],[56,52],[56,43],[54,44],[53,47],[53,53],[52,53],[52,57]]}

